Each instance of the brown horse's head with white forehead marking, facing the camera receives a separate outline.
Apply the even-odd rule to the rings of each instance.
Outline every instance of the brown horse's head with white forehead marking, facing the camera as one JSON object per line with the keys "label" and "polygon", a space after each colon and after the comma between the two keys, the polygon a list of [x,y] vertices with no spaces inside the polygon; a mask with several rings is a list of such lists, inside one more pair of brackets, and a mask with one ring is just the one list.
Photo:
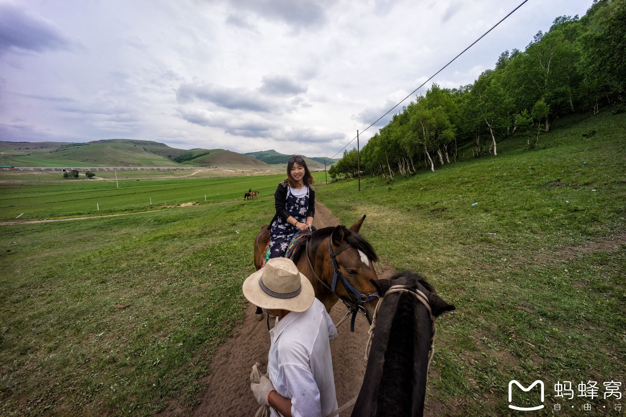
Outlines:
{"label": "brown horse's head with white forehead marking, facing the camera", "polygon": [[[359,234],[364,220],[365,216],[357,223],[352,224],[350,228],[336,226],[329,236],[329,246],[332,253],[337,253],[334,256],[336,266],[349,284],[347,286],[338,282],[335,289],[336,294],[340,298],[351,300],[354,303],[357,303],[357,298],[360,297],[361,301],[357,304],[362,306],[367,321],[372,323],[374,309],[378,303],[377,288],[372,284],[372,281],[378,279],[374,270],[374,262],[378,261],[378,257],[371,244]],[[327,260],[326,267],[334,269],[330,258]],[[330,273],[330,276],[332,274]],[[341,281],[341,279],[337,279],[337,281]],[[350,286],[356,291],[349,288]]]}

